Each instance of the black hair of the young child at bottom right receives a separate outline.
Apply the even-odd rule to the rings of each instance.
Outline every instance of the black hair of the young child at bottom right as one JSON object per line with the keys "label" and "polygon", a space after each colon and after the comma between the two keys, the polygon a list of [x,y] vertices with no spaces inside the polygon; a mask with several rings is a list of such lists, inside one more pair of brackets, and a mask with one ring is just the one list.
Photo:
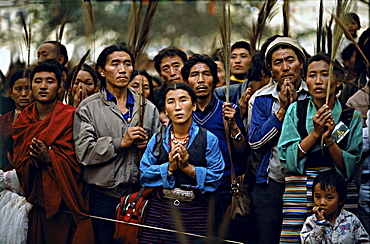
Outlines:
{"label": "black hair of the young child at bottom right", "polygon": [[312,183],[312,199],[315,199],[315,186],[317,184],[320,184],[320,189],[323,191],[334,187],[338,192],[339,202],[344,202],[346,200],[347,184],[335,169],[326,170],[315,177]]}

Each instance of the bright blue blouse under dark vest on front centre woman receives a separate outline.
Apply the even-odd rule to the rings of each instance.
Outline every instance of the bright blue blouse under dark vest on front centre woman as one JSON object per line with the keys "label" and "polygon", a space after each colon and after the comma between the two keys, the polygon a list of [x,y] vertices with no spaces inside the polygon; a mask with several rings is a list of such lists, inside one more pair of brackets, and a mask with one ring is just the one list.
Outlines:
{"label": "bright blue blouse under dark vest on front centre woman", "polygon": [[[162,144],[165,150],[169,153],[169,138],[170,125],[166,130],[166,138]],[[194,138],[199,133],[199,127],[193,122],[190,127],[190,139],[186,146],[188,149],[194,142]],[[168,176],[169,162],[157,165],[157,158],[153,155],[154,147],[157,142],[156,134],[149,140],[147,148],[140,162],[140,183],[144,187],[162,186],[165,189],[173,189],[175,187],[175,176]],[[207,147],[206,147],[206,167],[195,167],[196,172],[196,188],[201,192],[213,192],[221,184],[221,177],[225,167],[224,160],[220,153],[218,139],[211,132],[207,131]]]}

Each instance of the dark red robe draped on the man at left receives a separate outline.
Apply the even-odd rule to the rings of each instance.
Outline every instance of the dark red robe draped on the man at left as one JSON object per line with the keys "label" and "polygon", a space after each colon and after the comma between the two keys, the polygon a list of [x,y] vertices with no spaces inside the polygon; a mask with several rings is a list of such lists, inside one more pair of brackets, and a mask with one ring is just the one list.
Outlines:
{"label": "dark red robe draped on the man at left", "polygon": [[[59,210],[88,213],[87,189],[74,153],[74,113],[74,107],[58,102],[53,112],[40,120],[36,103],[33,103],[13,124],[13,165],[27,200],[45,208],[46,219]],[[40,164],[30,156],[32,138],[43,141],[49,148],[50,164]],[[93,243],[91,220],[78,214],[73,214],[73,218],[77,225],[73,243]]]}

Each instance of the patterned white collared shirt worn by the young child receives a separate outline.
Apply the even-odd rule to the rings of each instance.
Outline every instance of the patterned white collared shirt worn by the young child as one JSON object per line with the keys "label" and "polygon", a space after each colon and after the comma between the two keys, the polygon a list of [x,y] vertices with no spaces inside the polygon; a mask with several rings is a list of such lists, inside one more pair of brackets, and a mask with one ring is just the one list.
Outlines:
{"label": "patterned white collared shirt worn by the young child", "polygon": [[369,234],[360,220],[353,213],[342,209],[332,225],[325,220],[323,225],[317,223],[313,214],[308,217],[301,231],[301,243],[369,243]]}

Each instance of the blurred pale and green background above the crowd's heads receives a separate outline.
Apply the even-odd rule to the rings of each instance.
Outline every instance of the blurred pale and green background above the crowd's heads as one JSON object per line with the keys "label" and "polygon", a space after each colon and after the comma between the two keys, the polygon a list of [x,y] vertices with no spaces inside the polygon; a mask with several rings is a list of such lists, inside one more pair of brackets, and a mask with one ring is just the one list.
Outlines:
{"label": "blurred pale and green background above the crowd's heads", "polygon": [[[361,31],[368,27],[369,1],[354,1],[362,22]],[[36,63],[40,44],[55,40],[62,18],[68,13],[62,43],[67,46],[70,65],[91,49],[93,62],[105,46],[126,42],[131,1],[91,1],[94,12],[93,33],[83,0],[0,0],[0,68],[6,72],[11,62],[26,60],[23,27],[20,12],[31,25],[31,64]],[[257,20],[264,1],[231,0],[232,42],[248,41],[248,31]],[[325,0],[325,9],[333,11],[336,1]],[[282,34],[283,1],[278,0],[276,16],[267,24],[262,37]],[[298,38],[305,49],[313,54],[316,38],[319,0],[291,0],[290,36]],[[218,36],[218,1],[159,1],[150,32],[147,54],[152,59],[163,47],[176,45],[188,54],[210,53],[220,46]],[[328,13],[325,18],[328,19]],[[360,31],[360,34],[361,34]]]}

